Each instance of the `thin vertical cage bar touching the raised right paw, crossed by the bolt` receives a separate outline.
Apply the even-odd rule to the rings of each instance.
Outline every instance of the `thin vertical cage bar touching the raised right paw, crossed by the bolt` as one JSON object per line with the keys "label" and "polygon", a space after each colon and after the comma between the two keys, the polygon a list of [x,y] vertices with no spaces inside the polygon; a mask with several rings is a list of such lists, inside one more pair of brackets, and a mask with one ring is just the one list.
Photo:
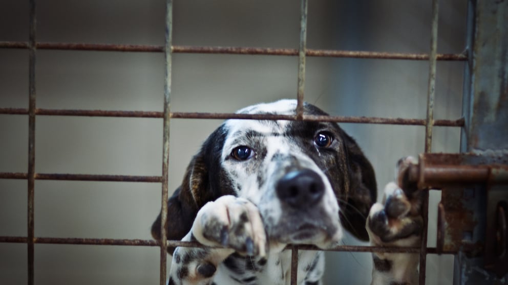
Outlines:
{"label": "thin vertical cage bar touching the raised right paw, crossed by the bolt", "polygon": [[[430,55],[429,55],[429,87],[427,93],[427,120],[425,126],[425,152],[432,151],[432,127],[434,125],[434,97],[436,92],[436,60],[437,60],[437,27],[439,19],[439,2],[432,1],[432,28],[430,39]],[[429,225],[429,192],[424,191],[423,203],[424,228],[421,234],[420,245],[420,268],[419,281],[420,285],[425,285],[427,270],[427,234]]]}

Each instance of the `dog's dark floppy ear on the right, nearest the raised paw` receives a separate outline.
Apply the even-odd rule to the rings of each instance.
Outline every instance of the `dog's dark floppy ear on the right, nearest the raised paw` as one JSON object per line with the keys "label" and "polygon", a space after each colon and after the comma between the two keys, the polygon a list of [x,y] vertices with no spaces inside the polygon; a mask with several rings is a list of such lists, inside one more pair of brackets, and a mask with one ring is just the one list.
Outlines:
{"label": "dog's dark floppy ear on the right, nearest the raised paw", "polygon": [[356,238],[368,241],[365,228],[370,207],[377,199],[374,169],[352,137],[343,131],[344,160],[348,175],[345,177],[345,194],[339,201],[342,225]]}

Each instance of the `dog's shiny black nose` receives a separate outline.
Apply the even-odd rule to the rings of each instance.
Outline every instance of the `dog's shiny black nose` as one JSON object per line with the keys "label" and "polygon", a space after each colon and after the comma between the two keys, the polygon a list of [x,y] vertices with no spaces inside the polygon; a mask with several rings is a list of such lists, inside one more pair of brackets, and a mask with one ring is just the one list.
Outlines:
{"label": "dog's shiny black nose", "polygon": [[277,196],[292,207],[305,207],[318,202],[325,192],[319,174],[310,169],[292,171],[282,177],[276,186]]}

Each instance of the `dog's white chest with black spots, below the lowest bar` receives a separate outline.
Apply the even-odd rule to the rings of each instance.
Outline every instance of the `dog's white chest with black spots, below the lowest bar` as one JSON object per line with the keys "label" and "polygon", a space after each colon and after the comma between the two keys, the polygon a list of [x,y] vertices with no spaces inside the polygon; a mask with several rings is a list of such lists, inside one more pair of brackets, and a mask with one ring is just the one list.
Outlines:
{"label": "dog's white chest with black spots, below the lowest bar", "polygon": [[[324,258],[321,252],[300,251],[298,254],[297,284],[320,280]],[[291,282],[291,251],[271,254],[268,258],[245,257],[232,254],[220,265],[215,284],[273,284]],[[317,284],[317,283],[315,283]]]}

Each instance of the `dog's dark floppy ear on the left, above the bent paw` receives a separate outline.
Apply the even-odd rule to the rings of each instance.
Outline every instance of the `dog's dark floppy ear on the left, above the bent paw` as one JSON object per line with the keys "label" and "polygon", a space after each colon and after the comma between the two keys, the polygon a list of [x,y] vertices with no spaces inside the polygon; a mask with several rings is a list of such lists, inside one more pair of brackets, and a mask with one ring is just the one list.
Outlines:
{"label": "dog's dark floppy ear on the left, above the bent paw", "polygon": [[[208,201],[228,194],[220,187],[220,155],[225,134],[218,128],[203,143],[201,150],[190,161],[182,185],[167,201],[167,240],[181,240],[194,223],[198,210]],[[213,173],[215,174],[213,174]],[[152,224],[152,236],[160,240],[161,213]],[[168,252],[173,253],[174,249]]]}

